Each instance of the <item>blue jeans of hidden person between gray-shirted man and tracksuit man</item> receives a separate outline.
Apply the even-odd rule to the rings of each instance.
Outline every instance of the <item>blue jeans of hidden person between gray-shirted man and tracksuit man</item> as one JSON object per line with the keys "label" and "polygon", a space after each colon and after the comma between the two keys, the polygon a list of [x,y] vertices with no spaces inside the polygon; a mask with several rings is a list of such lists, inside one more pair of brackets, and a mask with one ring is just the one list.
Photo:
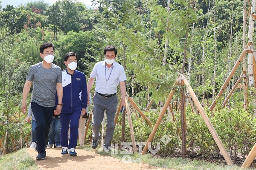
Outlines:
{"label": "blue jeans of hidden person between gray-shirted man and tracksuit man", "polygon": [[54,144],[54,132],[55,132],[55,145],[61,145],[61,120],[56,117],[52,117],[51,127],[49,130],[49,142],[48,144]]}

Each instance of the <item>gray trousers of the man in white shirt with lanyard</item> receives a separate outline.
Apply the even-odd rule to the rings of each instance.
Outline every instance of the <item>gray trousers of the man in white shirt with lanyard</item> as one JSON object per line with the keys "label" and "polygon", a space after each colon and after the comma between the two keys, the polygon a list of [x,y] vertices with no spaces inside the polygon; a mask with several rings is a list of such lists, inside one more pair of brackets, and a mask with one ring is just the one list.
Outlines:
{"label": "gray trousers of the man in white shirt with lanyard", "polygon": [[97,93],[93,96],[93,138],[99,139],[100,125],[104,118],[104,111],[107,113],[105,145],[111,146],[111,139],[114,134],[114,119],[116,114],[117,95],[105,98]]}

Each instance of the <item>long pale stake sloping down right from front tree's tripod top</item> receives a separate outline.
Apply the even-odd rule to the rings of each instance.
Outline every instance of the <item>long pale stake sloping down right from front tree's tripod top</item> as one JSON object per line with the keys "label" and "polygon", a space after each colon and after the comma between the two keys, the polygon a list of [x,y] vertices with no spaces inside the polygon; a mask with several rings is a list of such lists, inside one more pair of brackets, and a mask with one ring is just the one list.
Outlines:
{"label": "long pale stake sloping down right from front tree's tripod top", "polygon": [[222,144],[221,139],[219,138],[214,127],[212,126],[212,123],[210,122],[207,114],[204,112],[204,108],[201,106],[197,96],[195,95],[195,92],[193,91],[193,89],[191,88],[191,86],[189,85],[189,82],[185,79],[185,77],[184,76],[182,76],[182,77],[183,77],[183,82],[187,86],[189,94],[191,95],[193,101],[195,102],[195,105],[197,106],[199,113],[203,117],[204,122],[206,123],[210,133],[212,134],[212,137],[213,137],[214,141],[216,142],[219,150],[221,151],[224,159],[226,160],[228,165],[233,165],[233,161],[231,160],[230,156],[228,155],[227,150],[225,149],[224,145]]}

